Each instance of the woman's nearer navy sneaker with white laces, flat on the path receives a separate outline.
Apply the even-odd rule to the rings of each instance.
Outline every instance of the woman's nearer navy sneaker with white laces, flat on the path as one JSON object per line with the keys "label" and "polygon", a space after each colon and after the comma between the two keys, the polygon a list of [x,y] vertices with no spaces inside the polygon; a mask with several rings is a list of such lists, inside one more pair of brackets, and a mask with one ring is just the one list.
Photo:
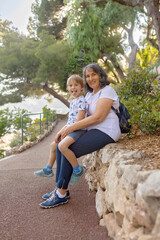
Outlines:
{"label": "woman's nearer navy sneaker with white laces, flat on the path", "polygon": [[42,208],[52,208],[57,207],[58,205],[65,204],[68,202],[67,196],[64,198],[59,198],[57,193],[54,192],[49,199],[47,199],[45,202],[40,203],[40,207]]}

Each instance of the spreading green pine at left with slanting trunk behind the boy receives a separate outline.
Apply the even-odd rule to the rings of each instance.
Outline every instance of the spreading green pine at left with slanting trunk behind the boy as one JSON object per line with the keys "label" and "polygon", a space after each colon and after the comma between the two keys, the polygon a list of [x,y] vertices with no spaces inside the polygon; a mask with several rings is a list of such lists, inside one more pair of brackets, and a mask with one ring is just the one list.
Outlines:
{"label": "spreading green pine at left with slanting trunk behind the boy", "polygon": [[[27,95],[28,87],[42,89],[69,106],[68,101],[58,94],[55,83],[63,86],[66,81],[63,69],[70,55],[70,48],[65,41],[57,41],[48,32],[41,32],[41,40],[20,35],[13,29],[2,29],[0,46],[0,72],[4,87],[2,96],[12,90],[9,96]],[[57,54],[58,53],[58,54]],[[23,96],[22,96],[23,94]]]}

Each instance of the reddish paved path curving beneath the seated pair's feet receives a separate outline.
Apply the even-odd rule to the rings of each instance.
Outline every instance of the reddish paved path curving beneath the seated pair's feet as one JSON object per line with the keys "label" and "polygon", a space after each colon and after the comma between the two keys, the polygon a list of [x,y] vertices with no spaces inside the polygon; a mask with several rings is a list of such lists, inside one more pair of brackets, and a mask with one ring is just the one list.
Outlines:
{"label": "reddish paved path curving beneath the seated pair's feet", "polygon": [[109,240],[107,230],[98,225],[95,194],[85,179],[70,187],[69,203],[42,209],[41,196],[55,187],[55,177],[38,178],[61,121],[39,144],[0,161],[0,240]]}

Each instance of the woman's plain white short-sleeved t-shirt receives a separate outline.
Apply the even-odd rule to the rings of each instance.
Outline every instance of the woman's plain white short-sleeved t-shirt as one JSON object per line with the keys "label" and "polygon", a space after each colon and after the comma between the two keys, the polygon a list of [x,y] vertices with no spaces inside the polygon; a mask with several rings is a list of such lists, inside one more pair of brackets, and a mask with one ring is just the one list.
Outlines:
{"label": "woman's plain white short-sleeved t-shirt", "polygon": [[[88,115],[92,115],[96,111],[96,105],[100,98],[109,98],[112,99],[113,107],[115,109],[118,109],[119,107],[119,98],[115,90],[110,87],[109,85],[102,88],[100,91],[98,91],[96,94],[92,95],[92,93],[88,92],[86,94],[86,101],[89,105],[88,108]],[[105,107],[105,106],[104,106]],[[114,141],[118,141],[121,135],[121,130],[119,127],[119,119],[114,112],[114,110],[110,109],[107,117],[103,120],[103,122],[90,126],[87,128],[90,129],[99,129],[100,131],[108,134]]]}

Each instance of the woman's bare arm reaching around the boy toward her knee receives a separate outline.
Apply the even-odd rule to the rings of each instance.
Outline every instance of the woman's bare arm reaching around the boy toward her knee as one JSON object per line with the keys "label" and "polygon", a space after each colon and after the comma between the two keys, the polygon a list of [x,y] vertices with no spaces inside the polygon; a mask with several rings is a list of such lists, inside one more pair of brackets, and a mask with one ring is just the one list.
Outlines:
{"label": "woman's bare arm reaching around the boy toward her knee", "polygon": [[97,102],[96,111],[93,115],[80,120],[78,122],[73,123],[62,131],[61,137],[64,138],[71,132],[74,132],[79,129],[83,129],[92,125],[96,125],[102,122],[108,115],[111,106],[113,104],[113,100],[109,98],[101,98]]}

